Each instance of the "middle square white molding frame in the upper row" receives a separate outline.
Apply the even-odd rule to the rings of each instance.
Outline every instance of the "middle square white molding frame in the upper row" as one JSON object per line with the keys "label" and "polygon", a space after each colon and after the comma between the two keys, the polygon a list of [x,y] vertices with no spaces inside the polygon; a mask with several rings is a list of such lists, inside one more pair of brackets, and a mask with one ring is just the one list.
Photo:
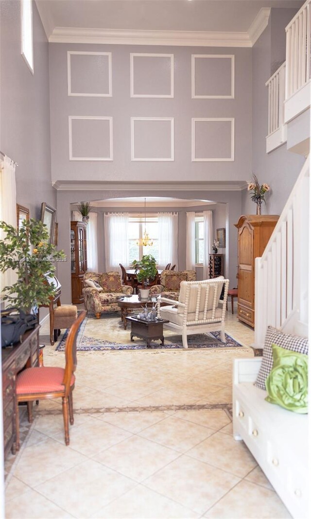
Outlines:
{"label": "middle square white molding frame in the upper row", "polygon": [[174,97],[174,54],[130,53],[131,97]]}

